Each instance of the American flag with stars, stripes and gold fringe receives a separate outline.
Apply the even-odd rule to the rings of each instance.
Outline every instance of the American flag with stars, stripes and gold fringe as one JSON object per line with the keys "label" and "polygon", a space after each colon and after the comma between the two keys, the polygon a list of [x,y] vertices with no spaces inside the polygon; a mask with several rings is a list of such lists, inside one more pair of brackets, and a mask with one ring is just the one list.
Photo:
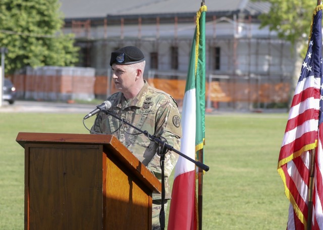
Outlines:
{"label": "American flag with stars, stripes and gold fringe", "polygon": [[[278,173],[290,200],[287,229],[323,230],[322,5],[313,13],[306,57],[293,97],[278,161]],[[314,154],[312,200],[310,156]],[[309,212],[310,211],[310,212]],[[308,219],[310,218],[311,219]]]}

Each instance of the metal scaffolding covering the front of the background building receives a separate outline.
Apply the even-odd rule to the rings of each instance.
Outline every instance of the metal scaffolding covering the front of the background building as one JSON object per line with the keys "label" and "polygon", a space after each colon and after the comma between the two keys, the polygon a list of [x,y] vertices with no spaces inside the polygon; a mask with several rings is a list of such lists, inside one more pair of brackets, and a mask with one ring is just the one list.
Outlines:
{"label": "metal scaffolding covering the front of the background building", "polygon": [[[172,84],[182,86],[181,81],[186,79],[194,22],[195,16],[113,17],[73,21],[66,24],[66,29],[70,27],[77,32],[77,44],[83,46],[86,57],[80,65],[96,69],[96,86],[110,87],[111,51],[135,45],[146,54],[145,78],[154,82],[156,88],[167,92],[170,80],[175,81]],[[290,44],[268,30],[260,30],[258,25],[256,17],[238,14],[206,18],[208,108],[253,109],[287,105],[294,66]],[[171,65],[175,57],[171,56],[170,47],[177,47],[178,63],[175,67]],[[221,50],[220,68],[214,67],[212,50],[216,47]],[[157,64],[153,64],[156,60]],[[100,84],[103,79],[105,82]],[[161,80],[169,83],[161,83]],[[174,87],[168,88],[174,90]],[[95,94],[106,97],[112,92],[100,89]],[[177,100],[182,99],[181,95],[177,97]]]}

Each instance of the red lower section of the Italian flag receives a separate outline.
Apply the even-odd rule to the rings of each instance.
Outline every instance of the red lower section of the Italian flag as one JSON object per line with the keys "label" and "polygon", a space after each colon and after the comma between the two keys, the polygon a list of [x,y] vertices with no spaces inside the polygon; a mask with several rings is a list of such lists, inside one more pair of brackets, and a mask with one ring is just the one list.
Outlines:
{"label": "red lower section of the Italian flag", "polygon": [[168,229],[195,230],[197,225],[195,171],[183,173],[174,179],[171,205]]}

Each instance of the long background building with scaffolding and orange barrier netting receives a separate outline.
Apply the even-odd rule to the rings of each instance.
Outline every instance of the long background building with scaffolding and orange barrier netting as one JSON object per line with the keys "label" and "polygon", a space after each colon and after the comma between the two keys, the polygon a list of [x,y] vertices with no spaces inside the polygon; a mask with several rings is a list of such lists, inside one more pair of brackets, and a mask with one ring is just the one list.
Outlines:
{"label": "long background building with scaffolding and orange barrier netting", "polygon": [[[181,103],[184,95],[197,0],[61,0],[64,32],[74,33],[79,66],[95,69],[94,92],[111,87],[110,54],[138,46],[146,57],[145,78]],[[293,64],[290,44],[258,16],[270,5],[249,0],[206,1],[207,106],[254,109],[286,104]]]}

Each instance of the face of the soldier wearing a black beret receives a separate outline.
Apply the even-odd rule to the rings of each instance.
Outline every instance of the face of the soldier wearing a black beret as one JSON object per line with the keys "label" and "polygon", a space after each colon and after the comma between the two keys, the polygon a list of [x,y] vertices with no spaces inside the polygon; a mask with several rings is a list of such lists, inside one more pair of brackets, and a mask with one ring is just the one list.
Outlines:
{"label": "face of the soldier wearing a black beret", "polygon": [[137,69],[132,65],[112,65],[112,78],[114,80],[116,89],[122,93],[131,91],[135,86]]}

